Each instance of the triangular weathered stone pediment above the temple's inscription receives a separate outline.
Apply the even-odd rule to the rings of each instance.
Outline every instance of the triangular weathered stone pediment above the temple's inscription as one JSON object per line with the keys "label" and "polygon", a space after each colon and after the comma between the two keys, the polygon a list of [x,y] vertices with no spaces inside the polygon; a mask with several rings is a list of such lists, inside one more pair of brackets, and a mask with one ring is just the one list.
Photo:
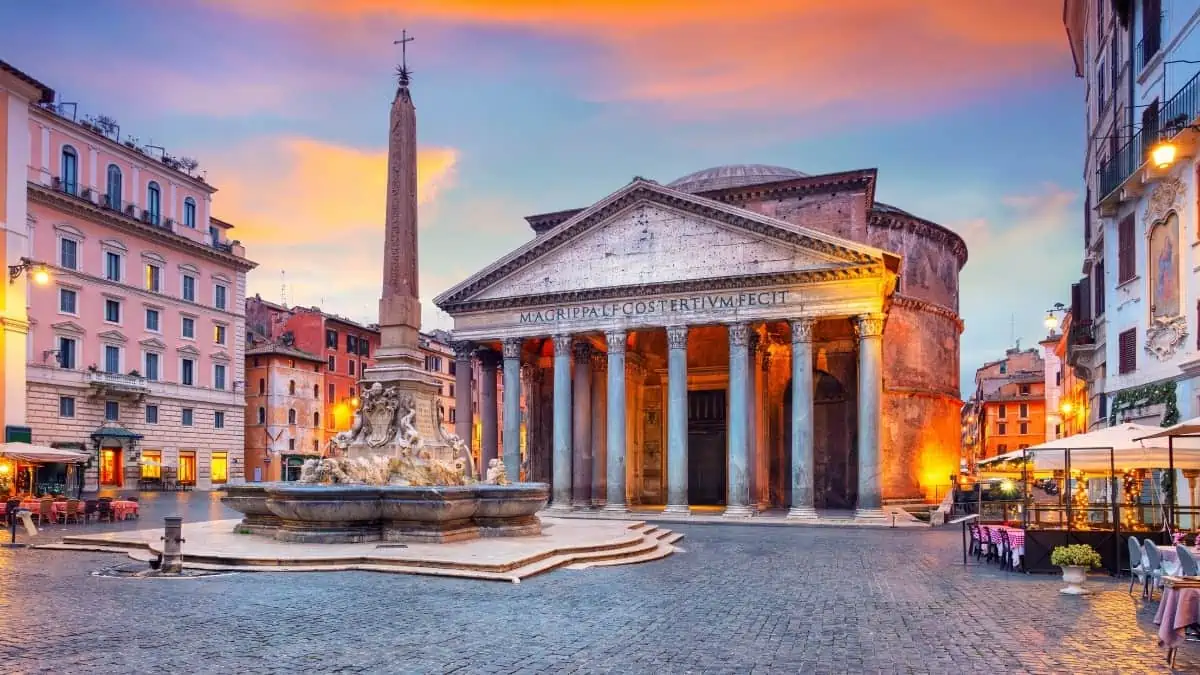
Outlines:
{"label": "triangular weathered stone pediment above the temple's inscription", "polygon": [[712,279],[850,274],[883,251],[636,180],[438,297],[439,306]]}

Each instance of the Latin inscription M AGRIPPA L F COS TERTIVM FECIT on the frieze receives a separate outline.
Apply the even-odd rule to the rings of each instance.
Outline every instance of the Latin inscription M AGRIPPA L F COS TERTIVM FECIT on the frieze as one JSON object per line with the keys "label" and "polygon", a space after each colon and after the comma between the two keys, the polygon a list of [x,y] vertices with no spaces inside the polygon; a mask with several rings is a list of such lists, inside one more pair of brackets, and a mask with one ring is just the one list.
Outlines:
{"label": "Latin inscription M AGRIPPA L F COS TERTIVM FECIT on the frieze", "polygon": [[690,295],[686,298],[654,298],[650,300],[620,300],[594,305],[566,305],[545,310],[521,312],[521,323],[553,323],[558,321],[587,321],[617,317],[661,316],[682,312],[731,311],[740,307],[782,305],[787,303],[787,291],[762,291],[754,293],[727,293]]}

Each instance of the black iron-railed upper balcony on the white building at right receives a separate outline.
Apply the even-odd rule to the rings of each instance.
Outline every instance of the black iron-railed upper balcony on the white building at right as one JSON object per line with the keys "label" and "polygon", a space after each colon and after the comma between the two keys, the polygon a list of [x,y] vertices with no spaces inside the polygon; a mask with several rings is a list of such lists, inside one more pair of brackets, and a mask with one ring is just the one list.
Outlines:
{"label": "black iron-railed upper balcony on the white building at right", "polygon": [[1139,169],[1146,163],[1150,149],[1162,138],[1175,138],[1187,136],[1181,143],[1180,155],[1186,156],[1194,149],[1194,133],[1186,127],[1200,117],[1200,73],[1188,80],[1175,96],[1162,107],[1159,112],[1159,124],[1153,127],[1144,127],[1133,136],[1124,145],[1117,150],[1116,156],[1109,157],[1100,165],[1100,199],[1102,211],[1112,214],[1116,204],[1128,196],[1141,192],[1141,185],[1157,178],[1147,172],[1146,175],[1136,177]]}

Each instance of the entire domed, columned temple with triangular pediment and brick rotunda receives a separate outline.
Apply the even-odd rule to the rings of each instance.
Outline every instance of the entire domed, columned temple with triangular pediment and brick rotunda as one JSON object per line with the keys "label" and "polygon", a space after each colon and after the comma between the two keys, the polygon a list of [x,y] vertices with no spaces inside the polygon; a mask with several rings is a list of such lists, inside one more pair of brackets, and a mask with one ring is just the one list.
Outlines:
{"label": "entire domed, columned temple with triangular pediment and brick rotunda", "polygon": [[523,477],[559,509],[932,497],[959,468],[966,246],[875,183],[725,166],[528,217],[530,241],[434,300],[462,363],[502,364],[500,405],[524,393]]}

